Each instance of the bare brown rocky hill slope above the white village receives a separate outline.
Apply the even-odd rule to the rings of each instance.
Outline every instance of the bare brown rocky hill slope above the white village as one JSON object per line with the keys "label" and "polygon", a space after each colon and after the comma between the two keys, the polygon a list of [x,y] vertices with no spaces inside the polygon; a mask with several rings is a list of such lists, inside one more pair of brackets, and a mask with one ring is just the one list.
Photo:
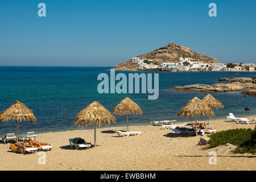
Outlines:
{"label": "bare brown rocky hill slope above the white village", "polygon": [[[147,59],[152,59],[159,62],[172,62],[177,63],[177,59],[179,57],[191,57],[192,59],[198,59],[204,61],[204,63],[219,63],[217,59],[214,59],[209,56],[200,55],[197,52],[193,52],[191,49],[179,46],[175,43],[169,43],[168,46],[164,46],[155,51],[145,53],[143,55],[135,56],[135,57],[145,57]],[[114,68],[116,70],[134,70],[137,67],[137,63],[133,63],[130,59],[125,63],[120,63],[115,65]]]}

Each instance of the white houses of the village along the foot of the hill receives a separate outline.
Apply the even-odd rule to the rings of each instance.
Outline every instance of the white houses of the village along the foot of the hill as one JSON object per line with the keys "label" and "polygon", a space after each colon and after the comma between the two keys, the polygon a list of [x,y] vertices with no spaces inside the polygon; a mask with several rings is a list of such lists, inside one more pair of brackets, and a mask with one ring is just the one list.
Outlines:
{"label": "white houses of the village along the foot of the hill", "polygon": [[204,63],[191,57],[179,57],[177,63],[166,63],[146,58],[133,57],[138,71],[255,71],[256,65],[243,63]]}

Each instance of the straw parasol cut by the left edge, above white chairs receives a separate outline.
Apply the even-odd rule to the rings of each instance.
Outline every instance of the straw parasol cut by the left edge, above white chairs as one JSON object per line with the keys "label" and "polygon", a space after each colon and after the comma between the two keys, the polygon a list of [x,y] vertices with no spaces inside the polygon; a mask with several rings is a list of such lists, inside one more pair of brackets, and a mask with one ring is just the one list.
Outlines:
{"label": "straw parasol cut by the left edge, above white chairs", "polygon": [[14,104],[11,105],[8,109],[0,113],[0,123],[7,122],[10,119],[13,119],[13,121],[16,120],[17,123],[17,141],[19,134],[19,122],[22,122],[22,120],[29,122],[36,121],[36,117],[34,116],[33,111],[28,109],[26,105],[19,101],[14,102]]}

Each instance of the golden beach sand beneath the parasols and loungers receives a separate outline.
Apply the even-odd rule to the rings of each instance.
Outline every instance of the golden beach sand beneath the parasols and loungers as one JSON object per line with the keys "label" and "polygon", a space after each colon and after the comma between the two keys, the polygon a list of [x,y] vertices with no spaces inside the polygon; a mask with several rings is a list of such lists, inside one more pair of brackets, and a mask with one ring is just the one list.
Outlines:
{"label": "golden beach sand beneath the parasols and loungers", "polygon": [[[248,118],[256,118],[251,116]],[[182,119],[182,118],[181,118]],[[149,123],[150,124],[150,123]],[[217,131],[251,128],[255,125],[211,121]],[[75,130],[38,134],[36,140],[49,142],[53,150],[46,151],[46,164],[39,164],[39,152],[16,154],[10,144],[0,143],[0,170],[255,170],[256,155],[233,154],[234,146],[218,146],[204,150],[199,146],[200,136],[175,135],[160,126],[130,126],[130,131],[142,131],[141,136],[118,137],[113,130],[126,127],[97,129],[97,147],[75,150],[69,147],[69,138],[81,137],[93,143],[93,130]],[[210,151],[216,151],[216,164],[209,164]]]}

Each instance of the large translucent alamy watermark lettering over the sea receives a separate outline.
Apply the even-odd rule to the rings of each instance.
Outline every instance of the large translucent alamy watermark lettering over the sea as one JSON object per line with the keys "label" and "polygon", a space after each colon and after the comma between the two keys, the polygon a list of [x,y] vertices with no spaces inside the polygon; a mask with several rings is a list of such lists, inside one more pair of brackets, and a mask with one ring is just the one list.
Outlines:
{"label": "large translucent alamy watermark lettering over the sea", "polygon": [[[152,84],[152,76],[154,76],[154,88]],[[129,73],[128,79],[125,73],[115,75],[115,70],[110,69],[110,78],[106,73],[100,73],[97,80],[101,80],[98,84],[98,93],[148,93],[148,100],[156,100],[159,96],[159,74],[158,73]],[[128,80],[128,85],[127,85]],[[118,81],[115,84],[115,81]],[[110,83],[110,84],[109,84]],[[110,85],[110,87],[109,87]]]}

